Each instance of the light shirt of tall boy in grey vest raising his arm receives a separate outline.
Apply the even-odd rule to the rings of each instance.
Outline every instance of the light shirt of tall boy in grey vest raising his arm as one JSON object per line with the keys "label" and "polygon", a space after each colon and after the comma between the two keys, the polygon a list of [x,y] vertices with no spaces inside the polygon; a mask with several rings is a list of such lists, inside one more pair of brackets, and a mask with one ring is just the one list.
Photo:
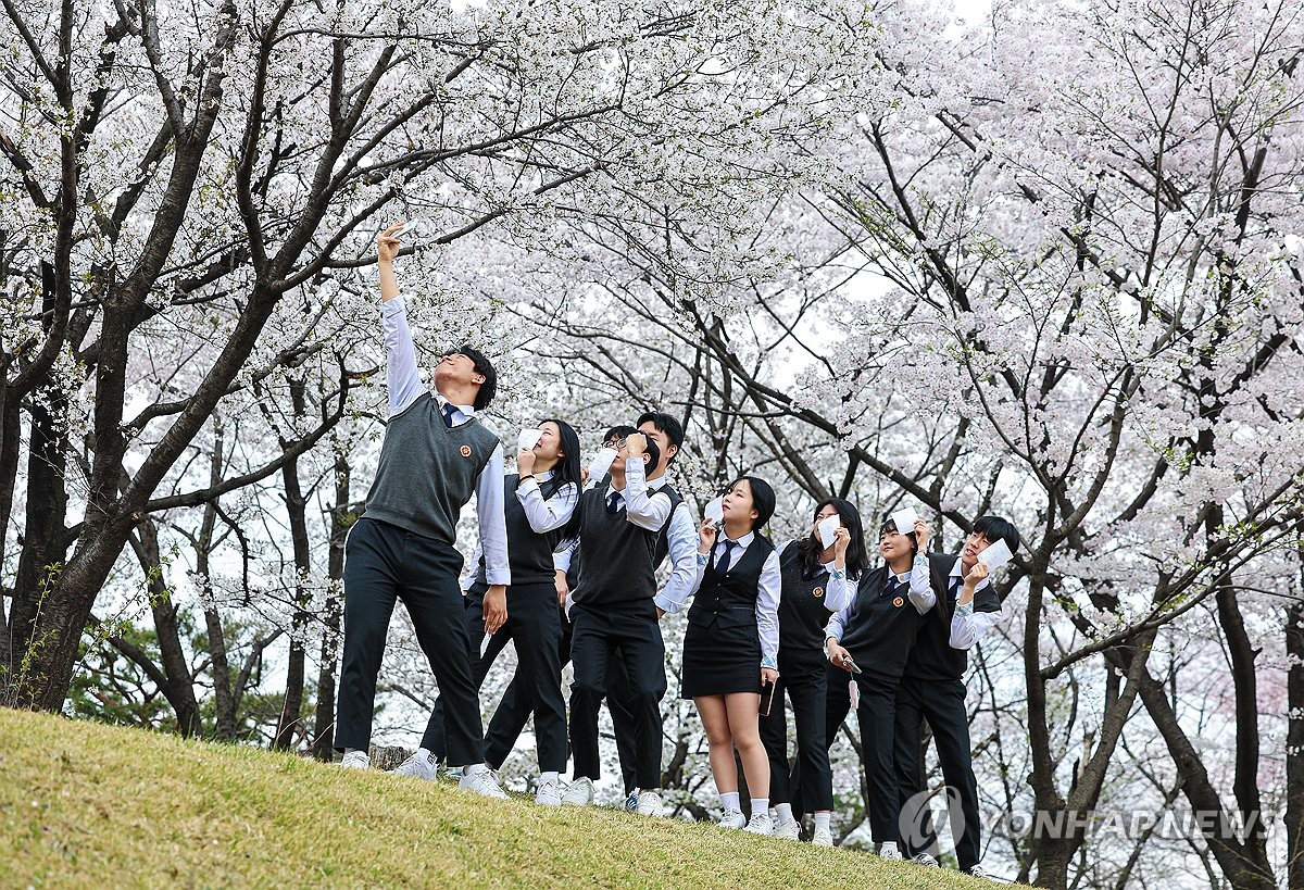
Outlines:
{"label": "light shirt of tall boy in grey vest raising his arm", "polygon": [[[426,391],[416,365],[416,346],[412,343],[412,329],[407,324],[407,307],[403,296],[381,303],[381,324],[385,331],[385,378],[390,395],[390,416],[403,414]],[[449,399],[436,393],[439,407]],[[452,425],[460,427],[476,416],[469,405],[454,405]],[[507,565],[507,525],[503,519],[503,453],[499,442],[480,478],[476,480],[476,519],[480,525],[480,548],[485,555],[485,579],[490,585],[510,585],[511,569]]]}

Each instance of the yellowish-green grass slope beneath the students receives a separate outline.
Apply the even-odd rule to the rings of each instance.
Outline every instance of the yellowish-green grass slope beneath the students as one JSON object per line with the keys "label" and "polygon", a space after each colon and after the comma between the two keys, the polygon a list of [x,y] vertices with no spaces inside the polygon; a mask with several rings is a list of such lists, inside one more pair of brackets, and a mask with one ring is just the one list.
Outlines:
{"label": "yellowish-green grass slope beneath the students", "polygon": [[0,709],[0,886],[995,885],[614,809]]}

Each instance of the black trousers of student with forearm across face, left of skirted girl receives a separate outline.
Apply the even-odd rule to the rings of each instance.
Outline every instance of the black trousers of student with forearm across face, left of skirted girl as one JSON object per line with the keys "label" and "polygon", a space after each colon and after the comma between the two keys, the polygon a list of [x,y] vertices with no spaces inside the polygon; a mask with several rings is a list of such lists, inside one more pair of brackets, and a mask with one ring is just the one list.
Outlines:
{"label": "black trousers of student with forearm across face, left of skirted girl", "polygon": [[571,753],[575,776],[597,779],[597,713],[606,697],[609,666],[623,664],[634,716],[634,782],[661,787],[661,698],[665,696],[665,643],[652,599],[608,606],[576,604],[571,660]]}

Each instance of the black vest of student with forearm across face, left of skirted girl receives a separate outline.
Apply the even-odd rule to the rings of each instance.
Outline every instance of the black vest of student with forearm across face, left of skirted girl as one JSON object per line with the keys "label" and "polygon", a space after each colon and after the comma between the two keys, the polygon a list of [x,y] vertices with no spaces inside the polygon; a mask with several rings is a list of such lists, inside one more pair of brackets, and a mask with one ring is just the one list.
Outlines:
{"label": "black vest of student with forearm across face, left of skirted girl", "polygon": [[[652,492],[651,497],[662,497]],[[579,549],[584,565],[574,602],[580,606],[632,603],[656,594],[657,531],[630,522],[625,510],[606,512],[606,488],[580,495]]]}

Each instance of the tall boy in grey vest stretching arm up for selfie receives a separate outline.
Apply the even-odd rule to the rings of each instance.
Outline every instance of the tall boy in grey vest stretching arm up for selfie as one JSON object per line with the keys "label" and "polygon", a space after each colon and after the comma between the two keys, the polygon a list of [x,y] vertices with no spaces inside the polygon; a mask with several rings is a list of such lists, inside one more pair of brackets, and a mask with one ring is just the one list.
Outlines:
{"label": "tall boy in grey vest stretching arm up for selfie", "polygon": [[381,318],[386,345],[390,420],[366,509],[344,545],[344,654],[335,745],[342,765],[366,769],[376,677],[394,606],[403,600],[450,715],[449,758],[463,767],[463,788],[506,797],[484,763],[480,697],[458,575],[456,522],[476,496],[485,555],[485,625],[507,617],[507,535],[502,445],[476,418],[493,399],[497,377],[469,347],[443,355],[432,394],[417,373],[416,348],[394,277],[400,248],[391,226],[377,239]]}

